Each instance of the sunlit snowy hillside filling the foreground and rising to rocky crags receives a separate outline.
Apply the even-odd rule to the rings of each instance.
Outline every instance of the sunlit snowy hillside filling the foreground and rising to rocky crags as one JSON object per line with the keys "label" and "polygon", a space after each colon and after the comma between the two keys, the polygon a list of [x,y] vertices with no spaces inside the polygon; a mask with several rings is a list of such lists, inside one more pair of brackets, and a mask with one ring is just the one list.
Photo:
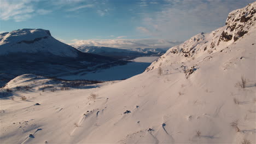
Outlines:
{"label": "sunlit snowy hillside filling the foreground and rising to rocky crags", "polygon": [[31,82],[11,81],[1,89],[13,96],[0,99],[0,141],[256,143],[255,8],[232,11],[226,26],[124,81],[55,92],[18,91],[16,82]]}

